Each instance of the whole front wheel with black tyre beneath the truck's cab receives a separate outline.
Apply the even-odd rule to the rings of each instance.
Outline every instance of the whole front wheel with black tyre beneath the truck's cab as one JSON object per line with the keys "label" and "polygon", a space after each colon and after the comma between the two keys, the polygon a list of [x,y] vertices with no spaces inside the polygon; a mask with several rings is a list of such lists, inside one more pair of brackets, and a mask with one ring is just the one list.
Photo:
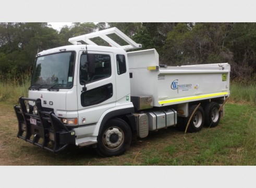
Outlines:
{"label": "whole front wheel with black tyre beneath the truck's cab", "polygon": [[120,118],[109,120],[97,138],[96,151],[101,156],[117,156],[123,154],[131,144],[131,129]]}

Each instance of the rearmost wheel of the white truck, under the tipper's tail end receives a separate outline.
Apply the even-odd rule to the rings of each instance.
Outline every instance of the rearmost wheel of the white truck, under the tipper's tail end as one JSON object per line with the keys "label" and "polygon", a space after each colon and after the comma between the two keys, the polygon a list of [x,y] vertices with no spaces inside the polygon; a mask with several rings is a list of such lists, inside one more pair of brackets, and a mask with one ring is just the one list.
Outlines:
{"label": "rearmost wheel of the white truck, under the tipper's tail end", "polygon": [[207,127],[216,127],[221,119],[220,105],[216,102],[208,103],[204,108],[205,123]]}

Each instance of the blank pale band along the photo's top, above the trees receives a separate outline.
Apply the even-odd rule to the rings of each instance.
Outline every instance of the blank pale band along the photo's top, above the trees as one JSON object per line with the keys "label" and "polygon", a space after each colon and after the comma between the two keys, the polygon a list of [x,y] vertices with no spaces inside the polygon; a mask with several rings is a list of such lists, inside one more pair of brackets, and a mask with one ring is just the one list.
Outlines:
{"label": "blank pale band along the photo's top, above the trees", "polygon": [[255,22],[256,1],[2,1],[2,22]]}

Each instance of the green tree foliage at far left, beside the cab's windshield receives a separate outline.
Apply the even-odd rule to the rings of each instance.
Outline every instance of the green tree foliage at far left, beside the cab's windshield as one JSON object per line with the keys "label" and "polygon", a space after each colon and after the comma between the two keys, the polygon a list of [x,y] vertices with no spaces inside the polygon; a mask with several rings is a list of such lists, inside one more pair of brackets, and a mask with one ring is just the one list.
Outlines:
{"label": "green tree foliage at far left, beside the cab's windshield", "polygon": [[1,23],[0,31],[3,77],[19,77],[31,70],[36,53],[59,46],[57,31],[48,28],[47,23]]}

